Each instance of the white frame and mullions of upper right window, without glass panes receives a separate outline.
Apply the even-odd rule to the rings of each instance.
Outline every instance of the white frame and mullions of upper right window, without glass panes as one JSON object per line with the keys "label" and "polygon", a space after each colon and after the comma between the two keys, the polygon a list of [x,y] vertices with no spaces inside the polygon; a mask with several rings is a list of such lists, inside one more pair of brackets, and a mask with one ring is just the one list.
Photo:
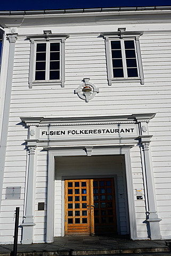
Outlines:
{"label": "white frame and mullions of upper right window, without glass panes", "polygon": [[[143,74],[143,66],[140,52],[140,36],[143,34],[143,31],[125,31],[125,28],[118,28],[117,32],[113,33],[101,33],[101,36],[105,39],[105,51],[107,57],[107,74],[108,74],[108,83],[112,85],[112,83],[131,83],[131,82],[140,82],[144,84],[144,74]],[[121,52],[123,59],[123,69],[124,69],[124,77],[113,77],[113,67],[112,67],[112,51],[111,51],[111,41],[120,41],[121,42]],[[126,57],[125,57],[125,49],[124,49],[124,41],[132,40],[135,44],[135,54],[136,54],[136,62],[137,62],[137,72],[138,77],[127,77],[127,67],[126,67]]]}

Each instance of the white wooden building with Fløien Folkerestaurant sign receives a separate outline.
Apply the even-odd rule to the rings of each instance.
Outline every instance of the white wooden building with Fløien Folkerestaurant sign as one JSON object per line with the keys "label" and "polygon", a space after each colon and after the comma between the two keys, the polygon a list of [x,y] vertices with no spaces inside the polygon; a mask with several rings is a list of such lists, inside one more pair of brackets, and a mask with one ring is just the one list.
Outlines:
{"label": "white wooden building with Fl\u00f8ien Folkerestaurant sign", "polygon": [[170,14],[0,12],[1,244],[171,239]]}

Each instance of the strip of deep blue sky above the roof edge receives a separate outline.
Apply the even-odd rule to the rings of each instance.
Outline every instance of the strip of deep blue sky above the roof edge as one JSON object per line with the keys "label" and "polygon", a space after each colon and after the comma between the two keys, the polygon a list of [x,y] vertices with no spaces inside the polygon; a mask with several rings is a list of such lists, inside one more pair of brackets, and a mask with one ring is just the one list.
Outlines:
{"label": "strip of deep blue sky above the roof edge", "polygon": [[112,6],[164,6],[171,5],[171,0],[1,0],[0,10],[44,10],[44,9],[70,9]]}

